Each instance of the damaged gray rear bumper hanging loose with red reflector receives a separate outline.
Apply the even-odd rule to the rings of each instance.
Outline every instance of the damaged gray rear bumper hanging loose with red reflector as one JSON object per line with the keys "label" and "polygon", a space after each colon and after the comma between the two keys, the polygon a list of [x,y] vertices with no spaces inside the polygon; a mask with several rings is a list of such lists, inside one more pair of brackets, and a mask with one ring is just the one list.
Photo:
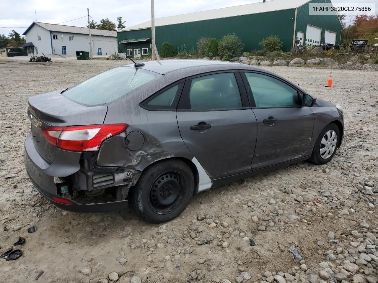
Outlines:
{"label": "damaged gray rear bumper hanging loose with red reflector", "polygon": [[36,189],[51,203],[61,209],[73,212],[104,212],[127,208],[127,200],[81,204],[76,198],[60,196],[57,185],[54,183],[54,177],[66,177],[77,172],[80,168],[80,155],[80,152],[67,152],[66,158],[60,159],[68,162],[77,158],[76,162],[73,162],[74,165],[70,165],[67,162],[49,164],[37,152],[31,135],[28,135],[25,140],[24,161],[26,171]]}

